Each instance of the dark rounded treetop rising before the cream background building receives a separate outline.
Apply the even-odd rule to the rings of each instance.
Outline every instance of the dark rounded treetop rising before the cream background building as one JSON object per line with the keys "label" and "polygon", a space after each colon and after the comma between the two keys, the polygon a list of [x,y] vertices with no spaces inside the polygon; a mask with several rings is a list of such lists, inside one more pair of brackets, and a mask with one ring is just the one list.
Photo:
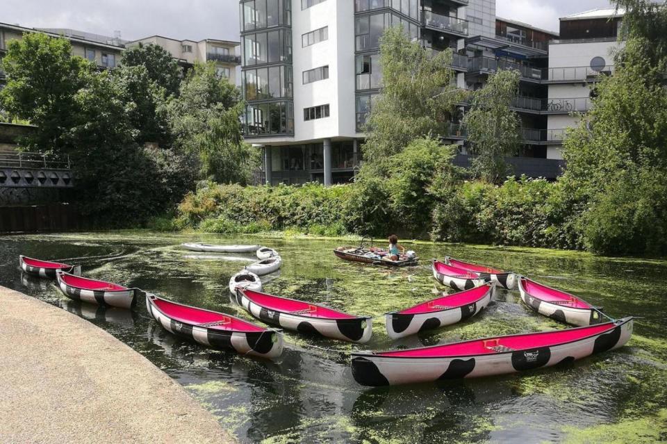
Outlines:
{"label": "dark rounded treetop rising before the cream background building", "polygon": [[167,94],[178,95],[183,74],[179,64],[163,47],[156,44],[138,44],[123,51],[120,65],[124,67],[142,66],[149,79],[164,88]]}

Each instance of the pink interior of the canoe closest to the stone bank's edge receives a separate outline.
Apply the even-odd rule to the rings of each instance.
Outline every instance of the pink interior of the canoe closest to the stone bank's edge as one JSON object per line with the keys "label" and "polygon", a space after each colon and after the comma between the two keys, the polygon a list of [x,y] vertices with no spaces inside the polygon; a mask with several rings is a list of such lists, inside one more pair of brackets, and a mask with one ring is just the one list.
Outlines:
{"label": "pink interior of the canoe closest to the stone bank's edge", "polygon": [[165,299],[153,299],[153,303],[173,320],[186,322],[186,324],[206,325],[209,329],[217,330],[233,330],[233,331],[265,331],[266,329],[258,327],[250,322],[245,322],[233,316],[225,315],[224,313],[217,313],[215,311],[208,311],[197,309],[176,302],[167,301]]}

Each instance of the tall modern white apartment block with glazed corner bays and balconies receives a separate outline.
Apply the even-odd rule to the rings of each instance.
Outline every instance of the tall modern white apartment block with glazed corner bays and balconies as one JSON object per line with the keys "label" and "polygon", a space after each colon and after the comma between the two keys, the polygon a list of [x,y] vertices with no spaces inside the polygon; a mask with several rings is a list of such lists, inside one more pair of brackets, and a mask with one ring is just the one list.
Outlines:
{"label": "tall modern white apartment block with glazed corner bays and balconies", "polygon": [[[495,0],[240,0],[245,136],[263,147],[267,183],[349,181],[379,92],[379,38],[402,24],[424,47],[454,51],[459,88],[518,69],[523,143],[510,163],[516,174],[554,179],[573,113],[588,109],[589,83],[610,70],[613,13],[563,17],[559,33],[497,17]],[[459,111],[445,140],[461,145],[455,162],[468,165],[466,106]]]}

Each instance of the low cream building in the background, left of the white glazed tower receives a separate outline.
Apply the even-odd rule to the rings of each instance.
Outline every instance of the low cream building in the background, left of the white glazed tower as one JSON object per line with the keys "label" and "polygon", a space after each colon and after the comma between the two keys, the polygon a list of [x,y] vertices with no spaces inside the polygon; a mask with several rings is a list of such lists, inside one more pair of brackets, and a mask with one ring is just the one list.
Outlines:
{"label": "low cream building in the background, left of the white glazed tower", "polygon": [[131,48],[139,44],[156,44],[163,47],[186,69],[192,67],[195,62],[213,61],[217,73],[236,85],[236,67],[241,63],[240,56],[236,54],[236,48],[239,46],[238,42],[214,39],[176,40],[161,35],[152,35],[140,40],[126,42],[125,47]]}

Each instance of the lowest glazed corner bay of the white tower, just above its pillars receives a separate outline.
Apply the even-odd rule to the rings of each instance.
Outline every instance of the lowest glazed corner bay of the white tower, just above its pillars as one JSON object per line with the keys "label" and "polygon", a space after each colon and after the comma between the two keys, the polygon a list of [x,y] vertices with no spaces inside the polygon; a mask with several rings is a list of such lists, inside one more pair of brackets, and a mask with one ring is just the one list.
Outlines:
{"label": "lowest glazed corner bay of the white tower, just above its pillars", "polygon": [[290,101],[249,104],[243,124],[246,135],[294,134],[294,106]]}

